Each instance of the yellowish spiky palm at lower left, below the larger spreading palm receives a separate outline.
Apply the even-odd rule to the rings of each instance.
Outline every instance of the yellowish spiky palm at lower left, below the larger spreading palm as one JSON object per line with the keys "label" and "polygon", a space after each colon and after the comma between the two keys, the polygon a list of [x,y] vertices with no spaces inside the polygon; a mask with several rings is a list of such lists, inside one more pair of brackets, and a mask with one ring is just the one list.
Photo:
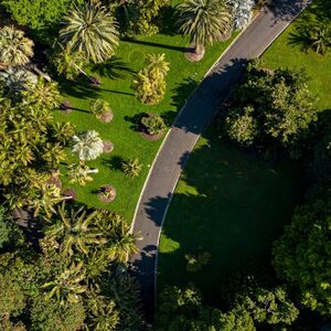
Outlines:
{"label": "yellowish spiky palm at lower left, below the larger spreading palm", "polygon": [[72,264],[55,279],[43,284],[41,288],[47,290],[45,298],[50,300],[55,296],[60,305],[79,302],[81,295],[87,290],[87,287],[82,284],[85,280],[83,265],[83,261],[77,265]]}

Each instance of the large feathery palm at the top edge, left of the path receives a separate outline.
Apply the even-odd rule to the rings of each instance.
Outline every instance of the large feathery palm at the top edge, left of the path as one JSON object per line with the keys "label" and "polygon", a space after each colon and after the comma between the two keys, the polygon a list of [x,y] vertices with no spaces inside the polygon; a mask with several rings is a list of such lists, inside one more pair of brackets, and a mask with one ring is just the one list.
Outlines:
{"label": "large feathery palm at the top edge, left of the path", "polygon": [[231,9],[224,0],[186,0],[177,8],[179,31],[189,35],[195,53],[222,40],[231,28]]}

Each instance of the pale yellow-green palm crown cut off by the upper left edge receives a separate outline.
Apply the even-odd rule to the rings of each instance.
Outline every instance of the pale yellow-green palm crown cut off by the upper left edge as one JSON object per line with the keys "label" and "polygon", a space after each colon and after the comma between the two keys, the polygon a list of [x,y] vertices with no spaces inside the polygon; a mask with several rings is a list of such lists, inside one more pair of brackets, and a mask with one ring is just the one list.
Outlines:
{"label": "pale yellow-green palm crown cut off by the upper left edge", "polygon": [[13,26],[0,30],[0,62],[4,65],[22,65],[33,56],[33,41]]}

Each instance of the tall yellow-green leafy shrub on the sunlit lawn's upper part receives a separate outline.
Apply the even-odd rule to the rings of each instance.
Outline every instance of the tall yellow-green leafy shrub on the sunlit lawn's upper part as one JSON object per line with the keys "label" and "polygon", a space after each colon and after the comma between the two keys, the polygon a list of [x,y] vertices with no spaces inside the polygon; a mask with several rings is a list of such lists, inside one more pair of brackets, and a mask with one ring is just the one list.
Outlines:
{"label": "tall yellow-green leafy shrub on the sunlit lawn's upper part", "polygon": [[132,88],[142,104],[157,105],[166,94],[169,63],[166,62],[166,54],[149,54],[146,63],[147,66],[139,71],[132,81]]}

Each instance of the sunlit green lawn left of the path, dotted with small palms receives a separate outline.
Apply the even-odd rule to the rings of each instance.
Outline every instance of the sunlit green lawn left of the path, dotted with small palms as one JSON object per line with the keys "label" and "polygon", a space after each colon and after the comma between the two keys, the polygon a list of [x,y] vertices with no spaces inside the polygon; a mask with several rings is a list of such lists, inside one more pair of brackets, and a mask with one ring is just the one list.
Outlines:
{"label": "sunlit green lawn left of the path, dotted with small palms", "polygon": [[[199,82],[229,42],[231,40],[207,47],[203,61],[194,64],[185,60],[182,47],[188,45],[188,40],[180,35],[158,34],[151,38],[140,38],[137,42],[121,41],[115,60],[110,62],[111,65],[108,68],[104,66],[102,74],[94,73],[103,81],[99,90],[73,82],[64,82],[62,84],[63,96],[72,102],[73,107],[81,110],[74,110],[70,115],[57,110],[55,118],[74,122],[78,131],[97,130],[104,140],[110,140],[115,145],[113,153],[103,154],[97,160],[87,162],[88,166],[98,168],[99,173],[94,175],[94,181],[86,186],[67,183],[66,169],[63,167],[64,189],[75,189],[79,202],[88,206],[116,211],[130,223],[149,167],[161,143],[161,140],[148,141],[135,131],[132,128],[135,116],[147,111],[157,113],[164,116],[170,125],[195,86],[192,79]],[[145,56],[149,53],[166,53],[167,61],[170,63],[167,95],[157,106],[141,105],[136,100],[130,88],[132,79],[130,72],[142,68]],[[109,102],[115,114],[111,124],[103,124],[86,113],[90,99],[95,97]],[[120,161],[130,158],[139,158],[143,163],[139,178],[126,178],[119,169]],[[77,160],[70,157],[70,161]],[[117,199],[108,205],[100,203],[95,193],[107,183],[117,189]]]}

